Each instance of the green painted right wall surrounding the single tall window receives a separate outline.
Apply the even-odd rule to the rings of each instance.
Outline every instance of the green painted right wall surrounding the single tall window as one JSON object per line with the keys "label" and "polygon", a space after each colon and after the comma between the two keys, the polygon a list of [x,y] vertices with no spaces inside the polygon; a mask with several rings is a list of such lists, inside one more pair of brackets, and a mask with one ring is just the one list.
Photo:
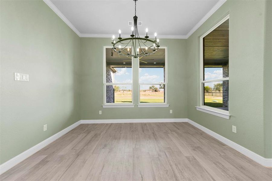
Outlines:
{"label": "green painted right wall surrounding the single tall window", "polygon": [[[267,116],[267,122],[264,121],[264,113],[271,111],[271,95],[268,97],[270,100],[264,104],[264,94],[269,90],[271,94],[271,79],[264,79],[264,74],[270,75],[271,78],[271,57],[269,60],[271,54],[264,52],[264,49],[268,50],[271,45],[271,39],[268,40],[270,43],[264,44],[265,37],[271,37],[271,30],[270,33],[265,32],[264,28],[270,26],[269,23],[265,24],[267,3],[266,1],[227,1],[187,39],[187,85],[189,119],[263,157],[271,158],[272,152],[269,152],[271,144],[268,144],[271,141],[271,137],[269,138],[271,129],[264,131],[264,124],[270,125],[271,128],[271,112],[270,117]],[[197,111],[195,108],[200,106],[199,37],[228,13],[230,16],[229,113],[231,114],[229,120]],[[271,14],[268,16],[271,18]],[[264,59],[264,54],[267,60]],[[264,71],[265,65],[270,66],[266,71]],[[267,85],[268,89],[265,90],[264,82],[269,80],[270,85]],[[266,104],[267,110],[264,109]],[[237,134],[232,132],[232,125],[237,126]]]}

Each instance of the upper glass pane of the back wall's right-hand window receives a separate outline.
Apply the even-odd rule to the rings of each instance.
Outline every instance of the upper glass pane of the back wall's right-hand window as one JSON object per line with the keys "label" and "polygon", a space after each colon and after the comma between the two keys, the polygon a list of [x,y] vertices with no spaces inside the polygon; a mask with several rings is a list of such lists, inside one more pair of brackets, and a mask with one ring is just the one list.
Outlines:
{"label": "upper glass pane of the back wall's right-hand window", "polygon": [[165,82],[165,49],[159,49],[155,54],[139,59],[140,83]]}

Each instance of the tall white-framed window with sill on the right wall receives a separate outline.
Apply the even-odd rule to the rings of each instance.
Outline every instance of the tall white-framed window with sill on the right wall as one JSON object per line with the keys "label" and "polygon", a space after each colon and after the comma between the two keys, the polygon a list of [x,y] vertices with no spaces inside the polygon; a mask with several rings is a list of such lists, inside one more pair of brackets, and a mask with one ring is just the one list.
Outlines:
{"label": "tall white-framed window with sill on the right wall", "polygon": [[229,119],[229,16],[200,37],[200,76],[198,110]]}

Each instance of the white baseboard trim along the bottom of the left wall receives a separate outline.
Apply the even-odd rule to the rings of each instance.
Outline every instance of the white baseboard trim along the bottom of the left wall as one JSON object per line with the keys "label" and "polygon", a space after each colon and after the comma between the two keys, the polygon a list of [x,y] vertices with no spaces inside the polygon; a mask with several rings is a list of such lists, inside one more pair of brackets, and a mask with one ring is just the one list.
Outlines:
{"label": "white baseboard trim along the bottom of the left wall", "polygon": [[62,135],[64,135],[67,132],[71,131],[72,129],[74,129],[78,125],[80,125],[80,121],[75,122],[74,124],[72,124],[72,125],[68,126],[67,128],[61,130],[60,132],[56,133],[55,135],[47,138],[46,140],[36,144],[35,146],[29,148],[28,150],[24,151],[23,153],[17,155],[16,157],[13,157],[10,160],[6,161],[5,163],[1,164],[0,165],[0,175],[2,173],[6,172],[7,170],[11,169],[12,167],[14,167],[15,165],[17,165],[21,161],[23,161],[26,158],[30,157],[31,155],[33,155],[34,153],[36,153],[40,149],[44,148],[48,144],[52,143],[53,141],[55,141],[56,139],[58,139]]}

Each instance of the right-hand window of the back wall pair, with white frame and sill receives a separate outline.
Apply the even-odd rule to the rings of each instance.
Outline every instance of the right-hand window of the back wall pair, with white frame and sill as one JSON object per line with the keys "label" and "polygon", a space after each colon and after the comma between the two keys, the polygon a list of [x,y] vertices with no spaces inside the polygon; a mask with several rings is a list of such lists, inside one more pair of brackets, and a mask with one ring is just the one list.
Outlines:
{"label": "right-hand window of the back wall pair, with white frame and sill", "polygon": [[139,107],[167,104],[167,56],[166,47],[147,57],[139,58]]}

